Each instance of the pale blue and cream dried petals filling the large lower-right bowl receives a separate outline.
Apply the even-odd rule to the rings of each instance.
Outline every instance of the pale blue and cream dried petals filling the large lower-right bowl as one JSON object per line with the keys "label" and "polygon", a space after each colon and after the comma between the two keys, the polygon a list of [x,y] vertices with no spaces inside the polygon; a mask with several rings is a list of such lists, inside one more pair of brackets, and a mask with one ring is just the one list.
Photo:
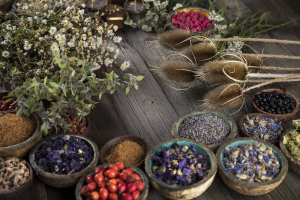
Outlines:
{"label": "pale blue and cream dried petals filling the large lower-right bowl", "polygon": [[262,143],[226,147],[222,163],[230,174],[248,182],[269,181],[280,172],[280,163],[272,148]]}

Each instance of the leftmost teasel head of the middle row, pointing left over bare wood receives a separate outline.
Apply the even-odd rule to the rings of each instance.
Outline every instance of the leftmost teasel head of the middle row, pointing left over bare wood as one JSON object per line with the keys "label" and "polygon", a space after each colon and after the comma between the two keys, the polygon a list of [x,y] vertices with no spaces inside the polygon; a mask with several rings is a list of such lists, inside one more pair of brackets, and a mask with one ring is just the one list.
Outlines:
{"label": "leftmost teasel head of the middle row, pointing left over bare wood", "polygon": [[156,65],[150,65],[161,78],[173,82],[192,82],[194,80],[195,65],[189,62],[165,60],[158,62]]}

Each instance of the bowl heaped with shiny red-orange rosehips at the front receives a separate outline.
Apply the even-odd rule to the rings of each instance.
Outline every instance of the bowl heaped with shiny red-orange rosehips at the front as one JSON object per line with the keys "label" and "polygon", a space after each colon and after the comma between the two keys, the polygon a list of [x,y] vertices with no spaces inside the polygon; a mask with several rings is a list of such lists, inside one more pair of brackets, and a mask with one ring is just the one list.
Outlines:
{"label": "bowl heaped with shiny red-orange rosehips at the front", "polygon": [[78,181],[76,200],[145,200],[149,183],[141,169],[123,162],[96,166]]}

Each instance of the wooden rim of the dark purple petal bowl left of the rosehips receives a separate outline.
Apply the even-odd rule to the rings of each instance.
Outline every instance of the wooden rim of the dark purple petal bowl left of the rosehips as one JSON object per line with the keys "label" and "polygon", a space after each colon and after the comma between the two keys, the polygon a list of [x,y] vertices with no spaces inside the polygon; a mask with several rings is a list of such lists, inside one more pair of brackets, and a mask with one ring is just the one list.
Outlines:
{"label": "wooden rim of the dark purple petal bowl left of the rosehips", "polygon": [[[62,135],[69,135],[69,136],[75,136],[75,137],[79,137],[81,139],[84,139],[90,146],[91,146],[91,150],[93,151],[93,158],[91,160],[91,162],[81,171],[76,172],[76,173],[71,173],[71,174],[54,174],[54,173],[49,173],[44,171],[41,168],[38,168],[36,171],[36,168],[38,167],[37,164],[34,161],[34,152],[47,140],[58,137],[58,136],[62,136]],[[34,169],[34,171],[37,172],[37,176],[42,175],[44,177],[48,177],[48,178],[75,178],[75,177],[79,177],[82,174],[85,173],[85,171],[87,171],[89,169],[89,167],[93,164],[93,163],[97,163],[98,162],[98,157],[99,157],[99,151],[98,151],[98,146],[89,138],[82,136],[82,135],[78,135],[78,134],[54,134],[54,135],[50,135],[47,136],[46,138],[43,138],[42,140],[38,141],[30,150],[29,152],[29,162],[32,166],[32,168]]]}

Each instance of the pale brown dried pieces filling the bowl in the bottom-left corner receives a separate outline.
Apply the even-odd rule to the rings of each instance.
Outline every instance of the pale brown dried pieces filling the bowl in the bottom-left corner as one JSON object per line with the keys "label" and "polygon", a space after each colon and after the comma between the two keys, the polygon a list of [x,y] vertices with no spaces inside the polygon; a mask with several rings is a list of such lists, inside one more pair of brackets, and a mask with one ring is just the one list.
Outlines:
{"label": "pale brown dried pieces filling the bowl in the bottom-left corner", "polygon": [[0,158],[0,192],[15,189],[24,184],[29,176],[25,160],[16,157]]}

